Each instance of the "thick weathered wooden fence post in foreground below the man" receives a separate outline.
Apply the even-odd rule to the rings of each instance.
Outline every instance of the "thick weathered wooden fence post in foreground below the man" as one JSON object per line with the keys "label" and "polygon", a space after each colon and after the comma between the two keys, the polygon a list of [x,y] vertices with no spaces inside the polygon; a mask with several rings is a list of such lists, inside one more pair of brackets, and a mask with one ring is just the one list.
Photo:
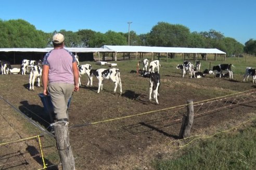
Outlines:
{"label": "thick weathered wooden fence post in foreground below the man", "polygon": [[73,170],[75,169],[75,162],[69,143],[68,122],[58,121],[53,123],[53,127],[62,170]]}

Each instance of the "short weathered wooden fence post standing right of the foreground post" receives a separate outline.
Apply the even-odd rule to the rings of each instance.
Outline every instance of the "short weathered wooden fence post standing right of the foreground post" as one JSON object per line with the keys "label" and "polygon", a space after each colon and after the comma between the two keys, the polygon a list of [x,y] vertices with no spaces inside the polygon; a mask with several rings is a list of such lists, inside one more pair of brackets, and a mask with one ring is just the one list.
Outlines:
{"label": "short weathered wooden fence post standing right of the foreground post", "polygon": [[194,121],[194,105],[193,100],[187,101],[187,115],[183,116],[181,131],[179,138],[186,138],[190,136],[190,129]]}

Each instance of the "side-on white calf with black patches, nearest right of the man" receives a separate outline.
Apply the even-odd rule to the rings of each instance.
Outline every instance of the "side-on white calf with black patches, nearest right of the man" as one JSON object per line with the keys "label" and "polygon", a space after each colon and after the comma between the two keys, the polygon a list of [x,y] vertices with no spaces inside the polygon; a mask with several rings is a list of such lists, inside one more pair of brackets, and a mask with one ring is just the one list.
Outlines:
{"label": "side-on white calf with black patches, nearest right of the man", "polygon": [[118,68],[99,68],[97,70],[91,69],[90,77],[92,77],[92,75],[96,76],[99,81],[97,93],[99,93],[100,90],[103,90],[103,80],[110,79],[114,82],[114,93],[116,93],[119,85],[120,94],[122,94],[122,82],[120,78],[120,70]]}

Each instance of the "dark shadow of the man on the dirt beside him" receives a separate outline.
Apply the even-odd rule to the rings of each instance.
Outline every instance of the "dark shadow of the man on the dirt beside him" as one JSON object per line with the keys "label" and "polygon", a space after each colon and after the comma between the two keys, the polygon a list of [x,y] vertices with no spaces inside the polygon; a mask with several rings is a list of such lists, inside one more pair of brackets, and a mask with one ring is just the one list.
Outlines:
{"label": "dark shadow of the man on the dirt beside him", "polygon": [[39,122],[43,125],[47,130],[49,129],[49,125],[51,123],[49,115],[45,112],[44,108],[39,105],[31,105],[28,101],[21,101],[19,106],[19,110],[32,120]]}

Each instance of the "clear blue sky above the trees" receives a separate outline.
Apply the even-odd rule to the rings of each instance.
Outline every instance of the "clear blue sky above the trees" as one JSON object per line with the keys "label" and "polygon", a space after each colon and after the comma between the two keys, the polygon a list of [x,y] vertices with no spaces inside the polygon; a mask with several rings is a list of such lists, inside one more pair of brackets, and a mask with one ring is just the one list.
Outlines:
{"label": "clear blue sky above the trees", "polygon": [[255,0],[1,1],[0,19],[23,19],[46,33],[90,29],[149,33],[158,22],[181,24],[190,32],[222,33],[245,44],[256,39]]}

